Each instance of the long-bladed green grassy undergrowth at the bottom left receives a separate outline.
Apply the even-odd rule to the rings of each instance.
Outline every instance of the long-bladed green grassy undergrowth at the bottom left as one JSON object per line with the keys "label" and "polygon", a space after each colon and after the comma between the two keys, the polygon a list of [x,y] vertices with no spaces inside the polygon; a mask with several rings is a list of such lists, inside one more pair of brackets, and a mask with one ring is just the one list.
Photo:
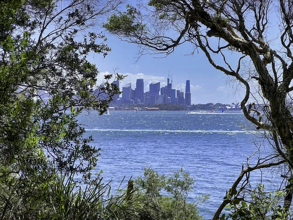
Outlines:
{"label": "long-bladed green grassy undergrowth at the bottom left", "polygon": [[111,195],[110,185],[103,184],[101,179],[84,187],[74,179],[74,174],[56,175],[42,191],[26,197],[18,194],[20,190],[1,189],[0,219],[131,220],[141,210],[138,199],[134,203],[123,193]]}

